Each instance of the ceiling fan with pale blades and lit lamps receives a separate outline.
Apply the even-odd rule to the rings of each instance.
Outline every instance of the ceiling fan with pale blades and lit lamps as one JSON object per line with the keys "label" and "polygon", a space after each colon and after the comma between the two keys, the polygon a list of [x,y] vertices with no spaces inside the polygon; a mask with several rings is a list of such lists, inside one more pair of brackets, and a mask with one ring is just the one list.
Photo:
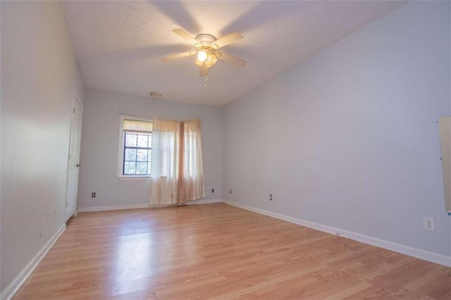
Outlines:
{"label": "ceiling fan with pale blades and lit lamps", "polygon": [[223,61],[228,61],[229,63],[233,63],[238,67],[244,67],[246,65],[246,61],[243,61],[240,58],[236,58],[235,56],[231,56],[230,54],[225,54],[223,51],[219,51],[218,49],[231,44],[233,42],[237,42],[242,39],[242,35],[239,32],[232,32],[230,35],[226,35],[225,37],[221,37],[221,39],[216,39],[213,35],[208,35],[206,33],[202,33],[201,35],[197,35],[196,37],[192,37],[183,29],[174,29],[177,35],[186,39],[190,44],[195,46],[197,49],[195,51],[183,52],[180,54],[174,54],[171,56],[166,56],[161,58],[161,61],[172,61],[176,58],[183,58],[187,56],[193,56],[197,54],[196,61],[194,61],[200,67],[199,75],[206,76],[209,73],[209,68],[211,68],[217,61],[218,58]]}

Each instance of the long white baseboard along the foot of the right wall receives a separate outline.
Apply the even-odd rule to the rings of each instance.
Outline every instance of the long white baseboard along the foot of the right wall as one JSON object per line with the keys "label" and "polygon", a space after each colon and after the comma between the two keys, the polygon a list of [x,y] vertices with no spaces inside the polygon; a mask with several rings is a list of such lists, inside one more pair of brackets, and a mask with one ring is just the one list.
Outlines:
{"label": "long white baseboard along the foot of the right wall", "polygon": [[327,225],[322,225],[322,224],[309,222],[306,220],[301,220],[298,218],[292,218],[292,217],[289,217],[288,215],[281,215],[280,213],[273,213],[272,211],[266,211],[264,209],[247,206],[245,204],[239,204],[239,203],[233,202],[233,201],[223,200],[223,203],[229,204],[231,206],[236,206],[239,208],[244,208],[247,211],[253,211],[254,213],[261,213],[262,215],[268,215],[273,218],[285,220],[287,222],[295,223],[297,225],[302,225],[302,226],[309,227],[312,229],[327,232],[332,235],[338,235],[340,237],[346,237],[347,239],[353,239],[354,241],[357,241],[357,242],[362,242],[362,243],[369,244],[372,246],[377,246],[377,247],[380,247],[383,249],[388,249],[390,251],[395,251],[400,254],[405,254],[408,256],[413,256],[415,258],[420,258],[424,261],[430,261],[432,263],[438,263],[440,265],[445,265],[447,267],[451,267],[451,256],[436,254],[436,253],[433,253],[430,251],[424,251],[421,249],[404,246],[402,244],[388,242],[383,239],[377,239],[376,237],[370,237],[368,235],[361,235],[357,232],[351,232],[351,231],[347,231],[347,230],[342,230],[340,228],[330,227]]}

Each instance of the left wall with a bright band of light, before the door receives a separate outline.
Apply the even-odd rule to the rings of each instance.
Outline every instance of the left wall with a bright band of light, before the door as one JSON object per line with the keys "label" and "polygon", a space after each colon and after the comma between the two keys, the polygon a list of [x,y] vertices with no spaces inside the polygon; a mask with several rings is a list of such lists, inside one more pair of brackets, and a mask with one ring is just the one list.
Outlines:
{"label": "left wall with a bright band of light, before the door", "polygon": [[1,1],[2,292],[63,225],[74,89],[83,100],[58,2]]}

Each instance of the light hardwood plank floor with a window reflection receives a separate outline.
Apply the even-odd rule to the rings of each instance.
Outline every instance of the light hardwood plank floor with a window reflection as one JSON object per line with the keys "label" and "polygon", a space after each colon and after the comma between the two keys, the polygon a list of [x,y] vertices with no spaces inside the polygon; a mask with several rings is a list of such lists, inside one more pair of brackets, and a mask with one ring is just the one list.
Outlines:
{"label": "light hardwood plank floor with a window reflection", "polygon": [[15,299],[451,299],[450,268],[226,204],[80,213]]}

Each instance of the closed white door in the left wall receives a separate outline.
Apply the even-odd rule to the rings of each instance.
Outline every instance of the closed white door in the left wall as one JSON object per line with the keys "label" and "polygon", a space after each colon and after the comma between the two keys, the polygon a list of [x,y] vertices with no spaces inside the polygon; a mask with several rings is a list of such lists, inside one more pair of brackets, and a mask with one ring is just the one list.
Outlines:
{"label": "closed white door in the left wall", "polygon": [[70,118],[70,142],[68,156],[68,179],[66,184],[66,222],[77,209],[78,169],[80,168],[80,140],[82,135],[83,106],[77,93],[73,93],[72,115]]}

